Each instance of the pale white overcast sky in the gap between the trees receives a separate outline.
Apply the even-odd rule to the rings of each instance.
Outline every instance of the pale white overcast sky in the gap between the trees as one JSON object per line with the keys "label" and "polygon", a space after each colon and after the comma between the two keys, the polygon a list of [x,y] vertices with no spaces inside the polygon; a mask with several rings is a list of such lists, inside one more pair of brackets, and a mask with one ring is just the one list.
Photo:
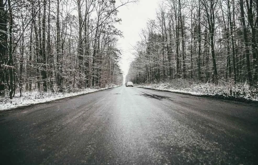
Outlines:
{"label": "pale white overcast sky in the gap between the trees", "polygon": [[[124,38],[119,38],[118,47],[122,49],[120,66],[124,75],[127,74],[129,64],[133,59],[133,47],[141,38],[141,29],[146,27],[148,19],[155,19],[158,2],[161,0],[139,0],[137,3],[130,3],[120,7],[118,17],[122,19],[116,27],[123,32]],[[119,0],[117,0],[119,4]]]}

